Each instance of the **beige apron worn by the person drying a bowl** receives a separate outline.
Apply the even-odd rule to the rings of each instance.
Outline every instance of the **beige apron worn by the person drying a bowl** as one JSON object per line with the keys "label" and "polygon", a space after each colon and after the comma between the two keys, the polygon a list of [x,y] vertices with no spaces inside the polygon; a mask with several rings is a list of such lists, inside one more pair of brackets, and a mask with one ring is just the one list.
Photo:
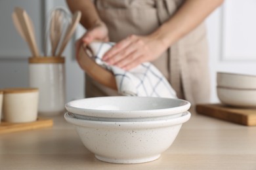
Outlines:
{"label": "beige apron worn by the person drying a bowl", "polygon": [[[109,29],[110,41],[128,35],[148,35],[168,20],[182,0],[95,0],[98,14]],[[192,104],[209,101],[209,71],[205,26],[199,25],[152,62],[181,99]],[[119,95],[86,76],[86,97]]]}

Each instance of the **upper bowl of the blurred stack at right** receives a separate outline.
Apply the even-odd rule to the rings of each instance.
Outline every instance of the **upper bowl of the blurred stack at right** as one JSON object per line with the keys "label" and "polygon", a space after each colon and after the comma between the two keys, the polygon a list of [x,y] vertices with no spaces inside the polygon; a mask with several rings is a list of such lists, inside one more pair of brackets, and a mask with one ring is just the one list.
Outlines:
{"label": "upper bowl of the blurred stack at right", "polygon": [[217,73],[217,86],[256,90],[256,75],[219,72]]}

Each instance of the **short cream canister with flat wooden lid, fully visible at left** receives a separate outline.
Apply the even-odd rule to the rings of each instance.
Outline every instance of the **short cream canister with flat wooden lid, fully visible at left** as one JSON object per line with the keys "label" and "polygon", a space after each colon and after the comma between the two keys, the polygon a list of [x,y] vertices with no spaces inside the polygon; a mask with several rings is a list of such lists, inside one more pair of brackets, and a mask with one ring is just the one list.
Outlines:
{"label": "short cream canister with flat wooden lid, fully visible at left", "polygon": [[37,88],[8,88],[3,91],[5,122],[24,123],[37,120]]}

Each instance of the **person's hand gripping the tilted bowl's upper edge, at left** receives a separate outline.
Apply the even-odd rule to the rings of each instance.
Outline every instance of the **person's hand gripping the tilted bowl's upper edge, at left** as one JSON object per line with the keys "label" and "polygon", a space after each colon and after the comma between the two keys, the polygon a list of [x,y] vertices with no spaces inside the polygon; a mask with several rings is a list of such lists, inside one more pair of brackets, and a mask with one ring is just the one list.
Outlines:
{"label": "person's hand gripping the tilted bowl's upper edge, at left", "polygon": [[93,41],[109,41],[108,27],[104,22],[98,22],[88,29],[86,33],[75,43],[76,58],[78,59],[79,48],[82,44],[89,44]]}

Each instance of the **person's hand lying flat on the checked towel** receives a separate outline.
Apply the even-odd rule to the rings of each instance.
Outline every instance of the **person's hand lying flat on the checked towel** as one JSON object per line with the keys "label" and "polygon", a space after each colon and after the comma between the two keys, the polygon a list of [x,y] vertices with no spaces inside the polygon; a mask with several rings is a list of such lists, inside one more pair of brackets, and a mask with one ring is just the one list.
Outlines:
{"label": "person's hand lying flat on the checked towel", "polygon": [[166,49],[165,43],[152,35],[130,35],[117,42],[102,59],[110,65],[129,70],[140,63],[159,58]]}

